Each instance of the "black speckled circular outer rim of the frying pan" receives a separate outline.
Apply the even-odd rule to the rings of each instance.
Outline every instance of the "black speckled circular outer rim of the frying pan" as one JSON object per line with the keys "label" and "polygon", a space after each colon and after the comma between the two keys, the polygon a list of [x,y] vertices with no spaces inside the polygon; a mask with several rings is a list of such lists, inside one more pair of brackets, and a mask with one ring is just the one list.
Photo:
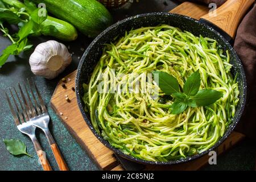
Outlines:
{"label": "black speckled circular outer rim of the frying pan", "polygon": [[[222,40],[224,40],[224,42],[226,43],[226,45],[228,46],[229,50],[230,51],[233,51],[236,55],[236,61],[238,61],[238,63],[241,65],[240,69],[241,69],[241,76],[242,76],[242,81],[243,81],[243,94],[241,96],[242,98],[242,104],[241,104],[241,109],[240,110],[237,110],[237,118],[233,118],[233,122],[232,124],[228,127],[228,129],[225,131],[225,134],[223,135],[223,137],[221,137],[212,147],[210,147],[208,150],[205,150],[199,154],[196,154],[196,155],[193,155],[193,156],[188,156],[187,158],[184,158],[184,159],[177,159],[177,160],[170,160],[168,162],[154,162],[154,161],[149,161],[149,160],[143,160],[143,159],[138,159],[138,158],[135,158],[134,156],[131,156],[131,155],[127,155],[125,153],[123,153],[122,151],[118,150],[117,148],[114,148],[113,146],[110,145],[110,143],[103,139],[101,137],[100,134],[97,133],[97,131],[94,129],[94,127],[92,126],[92,123],[90,122],[90,119],[87,117],[87,115],[85,114],[85,111],[83,109],[83,106],[82,106],[82,101],[81,101],[81,97],[80,97],[80,93],[79,93],[79,80],[80,80],[80,77],[81,77],[81,68],[82,68],[82,65],[85,64],[85,57],[86,55],[88,55],[90,49],[94,46],[94,44],[102,37],[104,36],[105,34],[107,34],[110,30],[112,30],[113,28],[115,28],[116,26],[118,26],[118,24],[122,24],[122,23],[125,23],[127,21],[130,21],[130,20],[133,20],[133,19],[136,19],[138,17],[146,17],[146,16],[152,16],[152,15],[158,15],[158,16],[161,16],[161,15],[167,15],[167,16],[170,16],[170,17],[174,17],[174,16],[182,16],[183,18],[185,19],[189,19],[189,20],[193,20],[194,22],[196,22],[197,24],[201,24],[201,26],[205,26],[207,27],[208,29],[210,29],[211,31],[213,31],[215,34],[217,34]],[[232,133],[232,131],[234,130],[234,128],[237,126],[237,123],[240,121],[241,119],[241,116],[242,116],[242,113],[243,113],[243,110],[245,108],[245,104],[246,104],[246,95],[247,95],[247,83],[246,83],[246,76],[245,76],[245,70],[243,68],[243,64],[240,60],[240,58],[238,57],[236,51],[234,50],[234,48],[230,45],[230,43],[219,33],[217,32],[216,30],[214,30],[212,27],[208,26],[208,24],[205,24],[203,22],[200,22],[199,20],[197,19],[193,19],[189,16],[185,16],[185,15],[180,15],[180,14],[173,14],[173,13],[162,13],[162,12],[157,12],[157,13],[146,13],[146,14],[139,14],[139,15],[135,15],[135,16],[131,16],[129,18],[126,18],[126,19],[123,19],[117,23],[114,23],[112,26],[106,28],[106,30],[104,30],[103,32],[101,32],[100,35],[98,35],[92,43],[90,43],[90,45],[88,46],[88,48],[86,48],[85,52],[84,52],[84,55],[82,56],[81,58],[81,61],[79,63],[79,67],[77,68],[77,74],[76,74],[76,97],[77,97],[77,102],[78,102],[78,105],[79,105],[79,109],[81,111],[81,114],[82,114],[82,117],[84,118],[85,122],[86,122],[86,125],[89,126],[90,130],[92,131],[92,133],[96,136],[96,138],[98,140],[100,140],[100,142],[102,144],[104,144],[106,147],[108,147],[110,150],[114,151],[116,154],[122,156],[123,158],[126,158],[128,160],[131,160],[133,162],[137,162],[137,163],[141,163],[141,164],[154,164],[154,165],[170,165],[170,164],[177,164],[177,163],[184,163],[184,162],[188,162],[190,160],[193,160],[193,159],[197,159],[199,158],[200,156],[203,156],[205,154],[208,154],[210,151],[213,151],[215,148],[217,148],[222,142],[224,142],[224,140],[226,138],[229,137],[229,135]]]}

